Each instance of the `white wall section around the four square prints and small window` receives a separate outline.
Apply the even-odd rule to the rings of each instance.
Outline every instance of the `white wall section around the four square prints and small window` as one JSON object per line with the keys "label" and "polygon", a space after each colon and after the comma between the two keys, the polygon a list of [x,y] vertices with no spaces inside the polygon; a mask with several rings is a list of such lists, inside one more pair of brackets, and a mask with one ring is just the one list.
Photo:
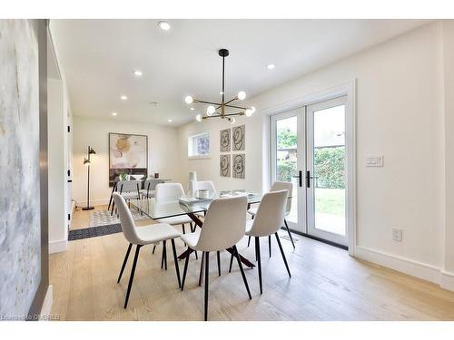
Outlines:
{"label": "white wall section around the four square prints and small window", "polygon": [[[219,170],[220,146],[219,134],[223,129],[232,128],[245,124],[246,145],[244,152],[234,153],[246,154],[246,174],[244,180],[232,177],[221,177]],[[193,160],[188,159],[188,137],[208,131],[210,133],[210,158]],[[248,189],[262,190],[262,116],[256,115],[252,118],[237,118],[234,124],[221,119],[205,120],[202,123],[197,121],[189,122],[179,129],[180,153],[182,155],[180,169],[182,170],[183,185],[187,187],[189,171],[197,171],[198,180],[212,180],[217,189]],[[232,154],[233,152],[228,152]],[[222,152],[222,154],[227,154]],[[182,163],[183,162],[183,163]]]}

